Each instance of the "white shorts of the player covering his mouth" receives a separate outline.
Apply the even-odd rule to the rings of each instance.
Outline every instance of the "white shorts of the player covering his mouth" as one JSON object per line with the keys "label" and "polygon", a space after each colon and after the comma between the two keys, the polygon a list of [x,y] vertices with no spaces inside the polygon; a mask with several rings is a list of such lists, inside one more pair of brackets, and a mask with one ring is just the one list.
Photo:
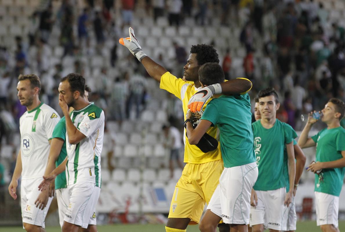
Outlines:
{"label": "white shorts of the player covering his mouth", "polygon": [[96,224],[95,208],[100,188],[96,187],[95,183],[88,182],[68,185],[67,188],[70,197],[64,221],[82,228]]}

